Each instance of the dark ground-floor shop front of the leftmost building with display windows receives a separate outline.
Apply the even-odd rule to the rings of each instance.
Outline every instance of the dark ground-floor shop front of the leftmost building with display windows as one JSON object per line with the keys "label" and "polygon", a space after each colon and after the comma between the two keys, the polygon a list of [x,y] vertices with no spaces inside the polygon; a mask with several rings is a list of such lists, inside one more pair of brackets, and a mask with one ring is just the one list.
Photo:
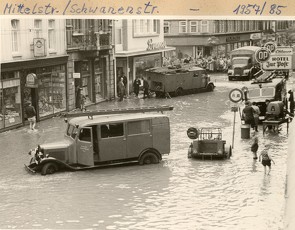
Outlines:
{"label": "dark ground-floor shop front of the leftmost building with display windows", "polygon": [[31,103],[37,121],[67,109],[67,57],[1,65],[0,131],[25,124]]}

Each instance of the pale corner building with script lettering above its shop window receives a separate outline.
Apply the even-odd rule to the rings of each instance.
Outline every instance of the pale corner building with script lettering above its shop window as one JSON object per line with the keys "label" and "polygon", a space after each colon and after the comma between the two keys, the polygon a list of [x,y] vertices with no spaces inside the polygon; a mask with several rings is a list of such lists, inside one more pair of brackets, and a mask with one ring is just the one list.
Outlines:
{"label": "pale corner building with script lettering above its shop window", "polygon": [[162,66],[165,53],[175,48],[164,41],[163,20],[122,19],[114,20],[116,82],[127,77],[127,94],[133,92],[133,81],[143,77],[144,70]]}

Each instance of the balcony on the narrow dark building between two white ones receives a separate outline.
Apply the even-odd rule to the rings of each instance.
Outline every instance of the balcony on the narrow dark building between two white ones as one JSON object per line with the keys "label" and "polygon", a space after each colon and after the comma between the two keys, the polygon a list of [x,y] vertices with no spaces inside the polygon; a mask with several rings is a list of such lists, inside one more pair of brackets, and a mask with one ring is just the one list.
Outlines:
{"label": "balcony on the narrow dark building between two white ones", "polygon": [[72,33],[68,50],[106,50],[112,48],[111,33],[94,32],[91,34]]}

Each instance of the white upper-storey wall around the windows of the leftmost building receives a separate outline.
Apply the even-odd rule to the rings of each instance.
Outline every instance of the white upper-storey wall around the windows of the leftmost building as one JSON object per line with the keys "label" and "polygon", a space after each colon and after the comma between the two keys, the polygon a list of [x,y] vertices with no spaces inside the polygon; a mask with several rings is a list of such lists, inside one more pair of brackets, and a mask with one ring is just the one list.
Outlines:
{"label": "white upper-storey wall around the windows of the leftmost building", "polygon": [[[15,18],[18,19],[18,18]],[[35,59],[33,52],[33,38],[35,37],[34,19],[37,18],[20,18],[19,20],[19,52],[12,52],[12,18],[2,18],[1,25],[1,62],[13,62],[20,60]],[[55,35],[56,49],[55,52],[49,52],[48,49],[48,20],[42,19],[42,36],[45,39],[45,57],[60,56],[66,54],[66,39],[65,39],[65,20],[55,20]]]}

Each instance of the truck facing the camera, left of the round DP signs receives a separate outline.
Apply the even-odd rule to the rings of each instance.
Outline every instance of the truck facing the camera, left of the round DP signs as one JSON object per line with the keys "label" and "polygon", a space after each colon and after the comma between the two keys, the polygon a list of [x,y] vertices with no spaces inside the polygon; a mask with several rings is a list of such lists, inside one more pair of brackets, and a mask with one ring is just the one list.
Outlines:
{"label": "truck facing the camera, left of the round DP signs", "polygon": [[250,80],[251,68],[257,64],[255,52],[259,50],[259,46],[244,46],[232,50],[230,54],[231,66],[228,69],[228,80]]}

